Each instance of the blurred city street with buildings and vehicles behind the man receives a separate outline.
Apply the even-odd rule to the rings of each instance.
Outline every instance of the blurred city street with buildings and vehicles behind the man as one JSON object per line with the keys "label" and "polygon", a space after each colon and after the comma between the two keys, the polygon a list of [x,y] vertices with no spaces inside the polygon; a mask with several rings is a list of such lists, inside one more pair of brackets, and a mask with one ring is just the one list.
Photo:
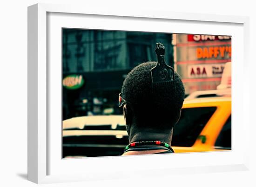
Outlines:
{"label": "blurred city street with buildings and vehicles behind the man", "polygon": [[121,155],[128,144],[118,94],[128,72],[166,63],[185,86],[172,147],[179,152],[231,149],[231,37],[62,29],[62,157]]}

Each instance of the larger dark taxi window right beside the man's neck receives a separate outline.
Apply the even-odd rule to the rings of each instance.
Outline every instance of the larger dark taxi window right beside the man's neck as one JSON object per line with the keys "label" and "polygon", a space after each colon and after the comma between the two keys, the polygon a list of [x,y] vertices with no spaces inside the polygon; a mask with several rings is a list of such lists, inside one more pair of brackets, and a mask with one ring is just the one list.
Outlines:
{"label": "larger dark taxi window right beside the man's neck", "polygon": [[182,109],[179,122],[175,125],[172,146],[191,147],[198,135],[216,111],[216,107]]}

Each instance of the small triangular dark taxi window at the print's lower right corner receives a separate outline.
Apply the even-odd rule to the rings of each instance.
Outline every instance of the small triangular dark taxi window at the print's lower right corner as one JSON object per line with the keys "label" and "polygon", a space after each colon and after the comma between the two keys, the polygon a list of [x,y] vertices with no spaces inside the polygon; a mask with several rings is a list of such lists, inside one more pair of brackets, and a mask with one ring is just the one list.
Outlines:
{"label": "small triangular dark taxi window at the print's lower right corner", "polygon": [[216,149],[231,149],[231,115],[223,126],[216,142]]}

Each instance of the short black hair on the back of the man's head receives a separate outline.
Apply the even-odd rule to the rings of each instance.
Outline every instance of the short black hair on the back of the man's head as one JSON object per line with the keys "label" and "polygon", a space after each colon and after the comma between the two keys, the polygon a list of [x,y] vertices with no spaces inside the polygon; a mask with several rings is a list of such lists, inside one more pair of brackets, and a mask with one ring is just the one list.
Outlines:
{"label": "short black hair on the back of the man's head", "polygon": [[180,116],[185,89],[182,79],[175,72],[175,91],[162,86],[152,92],[150,69],[156,62],[139,64],[125,78],[121,93],[138,128],[171,129]]}

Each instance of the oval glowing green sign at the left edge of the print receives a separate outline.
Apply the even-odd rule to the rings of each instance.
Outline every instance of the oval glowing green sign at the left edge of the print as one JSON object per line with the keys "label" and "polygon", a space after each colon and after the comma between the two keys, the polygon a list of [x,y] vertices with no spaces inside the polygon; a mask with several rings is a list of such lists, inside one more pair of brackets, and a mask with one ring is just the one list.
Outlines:
{"label": "oval glowing green sign at the left edge of the print", "polygon": [[63,86],[70,90],[79,89],[84,84],[82,75],[68,75],[63,79]]}

